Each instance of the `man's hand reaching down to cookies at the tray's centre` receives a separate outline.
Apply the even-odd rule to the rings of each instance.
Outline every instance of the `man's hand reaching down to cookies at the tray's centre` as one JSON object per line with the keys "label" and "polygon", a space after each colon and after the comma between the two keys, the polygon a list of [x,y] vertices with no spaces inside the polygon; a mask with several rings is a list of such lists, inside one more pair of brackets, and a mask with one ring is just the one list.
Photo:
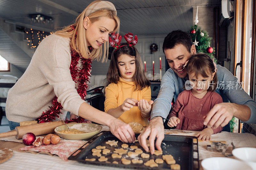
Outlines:
{"label": "man's hand reaching down to cookies at the tray's centre", "polygon": [[146,143],[147,138],[149,140],[149,148],[151,154],[154,154],[155,152],[155,138],[157,138],[156,149],[159,151],[162,150],[161,143],[164,139],[164,124],[162,117],[154,117],[151,119],[145,131],[138,136],[139,143],[146,152],[148,152],[148,146]]}

